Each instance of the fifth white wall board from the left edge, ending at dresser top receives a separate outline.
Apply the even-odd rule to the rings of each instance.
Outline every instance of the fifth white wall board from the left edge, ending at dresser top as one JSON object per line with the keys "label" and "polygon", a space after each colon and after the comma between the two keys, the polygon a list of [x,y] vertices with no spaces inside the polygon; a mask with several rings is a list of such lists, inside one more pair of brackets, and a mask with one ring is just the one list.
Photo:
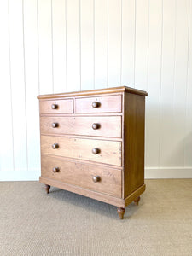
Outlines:
{"label": "fifth white wall board from the left edge, ending at dresser top", "polygon": [[67,91],[66,1],[52,0],[54,92]]}

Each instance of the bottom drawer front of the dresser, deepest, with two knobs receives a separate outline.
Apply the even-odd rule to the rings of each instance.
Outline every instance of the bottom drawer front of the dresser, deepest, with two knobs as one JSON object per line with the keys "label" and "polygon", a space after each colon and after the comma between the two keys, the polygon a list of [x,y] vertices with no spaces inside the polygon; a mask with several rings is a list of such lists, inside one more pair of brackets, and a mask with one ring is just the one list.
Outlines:
{"label": "bottom drawer front of the dresser, deepest, with two knobs", "polygon": [[41,165],[42,177],[121,197],[121,170],[46,155],[42,155]]}

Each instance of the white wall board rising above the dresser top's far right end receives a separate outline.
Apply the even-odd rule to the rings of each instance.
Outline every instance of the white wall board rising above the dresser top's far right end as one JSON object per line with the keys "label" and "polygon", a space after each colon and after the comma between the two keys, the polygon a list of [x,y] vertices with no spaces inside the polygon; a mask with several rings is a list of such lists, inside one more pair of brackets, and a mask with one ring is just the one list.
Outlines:
{"label": "white wall board rising above the dresser top's far right end", "polygon": [[136,5],[135,87],[147,90],[148,84],[148,0]]}

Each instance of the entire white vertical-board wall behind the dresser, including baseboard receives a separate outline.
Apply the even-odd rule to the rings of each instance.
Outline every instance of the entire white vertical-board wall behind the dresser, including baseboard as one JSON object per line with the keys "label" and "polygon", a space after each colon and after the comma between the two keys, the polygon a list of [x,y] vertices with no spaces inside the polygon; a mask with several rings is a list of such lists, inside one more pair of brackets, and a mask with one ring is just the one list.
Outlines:
{"label": "entire white vertical-board wall behind the dresser, including baseboard", "polygon": [[38,94],[146,98],[147,178],[192,177],[192,0],[0,1],[0,180],[38,180]]}

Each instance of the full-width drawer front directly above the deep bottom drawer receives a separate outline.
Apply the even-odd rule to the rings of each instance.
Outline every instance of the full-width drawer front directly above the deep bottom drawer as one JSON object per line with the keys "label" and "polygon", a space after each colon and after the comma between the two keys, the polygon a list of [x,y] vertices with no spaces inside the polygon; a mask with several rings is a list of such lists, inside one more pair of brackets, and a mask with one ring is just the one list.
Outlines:
{"label": "full-width drawer front directly above the deep bottom drawer", "polygon": [[42,135],[41,152],[121,166],[121,142]]}

